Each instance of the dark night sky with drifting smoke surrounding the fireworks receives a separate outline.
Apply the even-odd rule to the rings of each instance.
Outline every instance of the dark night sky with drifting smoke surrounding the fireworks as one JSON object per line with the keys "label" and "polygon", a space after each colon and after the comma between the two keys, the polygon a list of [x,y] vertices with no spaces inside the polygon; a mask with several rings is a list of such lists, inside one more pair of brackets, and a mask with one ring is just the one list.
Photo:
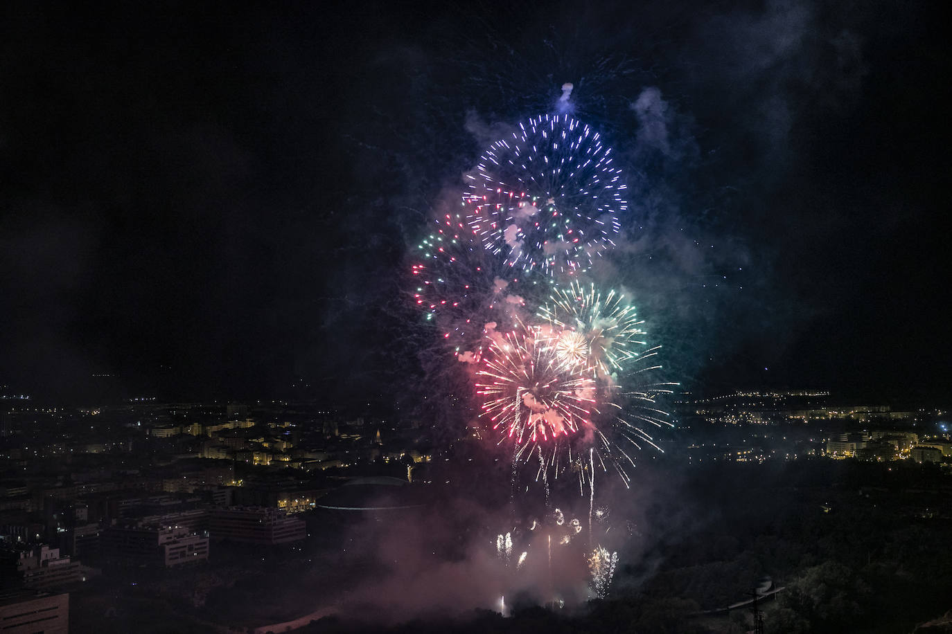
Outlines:
{"label": "dark night sky with drifting smoke surrounding the fireworks", "polygon": [[580,4],[6,5],[0,384],[412,394],[408,246],[572,82],[685,385],[946,396],[939,7]]}

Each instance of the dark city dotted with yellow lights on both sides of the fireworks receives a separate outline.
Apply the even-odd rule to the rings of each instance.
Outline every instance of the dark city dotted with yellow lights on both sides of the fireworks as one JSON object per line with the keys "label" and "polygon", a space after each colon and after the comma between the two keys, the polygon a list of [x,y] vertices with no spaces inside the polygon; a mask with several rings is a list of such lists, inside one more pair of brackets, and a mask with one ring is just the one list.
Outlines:
{"label": "dark city dotted with yellow lights on both sides of the fireworks", "polygon": [[[0,405],[3,614],[15,625],[42,619],[44,631],[69,624],[71,631],[122,632],[144,622],[156,631],[367,627],[353,616],[339,619],[364,591],[367,570],[392,572],[359,541],[368,531],[418,521],[447,498],[479,499],[470,479],[486,469],[470,467],[472,456],[485,461],[474,434],[438,443],[419,420],[315,401],[133,398],[70,408],[4,394]],[[894,410],[816,391],[679,394],[673,409],[677,425],[659,439],[663,452],[650,456],[640,479],[677,473],[689,498],[703,488],[692,478],[716,473],[728,482],[769,470],[757,476],[763,489],[745,485],[744,495],[794,498],[814,522],[858,514],[863,522],[908,522],[917,534],[937,536],[952,522],[947,412]],[[790,489],[786,479],[797,486]],[[723,521],[749,528],[741,509],[751,510],[742,505],[740,516]],[[469,537],[492,541],[488,519],[470,529]],[[718,529],[694,530],[664,544],[633,528],[638,548],[699,551],[693,562],[678,561],[690,559],[686,552],[665,562],[657,583],[719,564],[705,562],[696,542]],[[720,539],[738,548],[736,536]],[[434,542],[438,547],[459,545]],[[787,548],[803,552],[783,556],[811,558],[805,545]],[[886,566],[886,554],[864,556]],[[766,578],[773,581],[756,591],[769,623],[776,607],[767,602],[776,604],[781,584],[796,578],[779,562],[732,571],[737,578],[716,589],[683,587],[684,605],[668,605],[655,625],[734,631],[731,614],[745,615],[750,604],[744,584]],[[254,586],[242,581],[248,574]],[[302,579],[322,580],[325,589],[302,591]],[[654,623],[643,618],[643,626]]]}

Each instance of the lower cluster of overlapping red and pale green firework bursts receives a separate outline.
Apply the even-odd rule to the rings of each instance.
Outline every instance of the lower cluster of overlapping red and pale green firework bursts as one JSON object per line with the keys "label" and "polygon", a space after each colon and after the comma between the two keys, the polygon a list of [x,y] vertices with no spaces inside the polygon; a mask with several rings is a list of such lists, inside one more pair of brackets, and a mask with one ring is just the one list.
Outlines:
{"label": "lower cluster of overlapping red and pale green firework bursts", "polygon": [[[487,427],[510,443],[513,464],[536,456],[536,479],[574,472],[581,492],[595,471],[615,471],[625,486],[632,451],[660,451],[652,430],[670,427],[657,403],[671,383],[644,378],[661,366],[647,348],[642,321],[624,296],[591,285],[557,289],[515,331],[488,331],[476,393]],[[632,389],[634,386],[634,389]]]}

